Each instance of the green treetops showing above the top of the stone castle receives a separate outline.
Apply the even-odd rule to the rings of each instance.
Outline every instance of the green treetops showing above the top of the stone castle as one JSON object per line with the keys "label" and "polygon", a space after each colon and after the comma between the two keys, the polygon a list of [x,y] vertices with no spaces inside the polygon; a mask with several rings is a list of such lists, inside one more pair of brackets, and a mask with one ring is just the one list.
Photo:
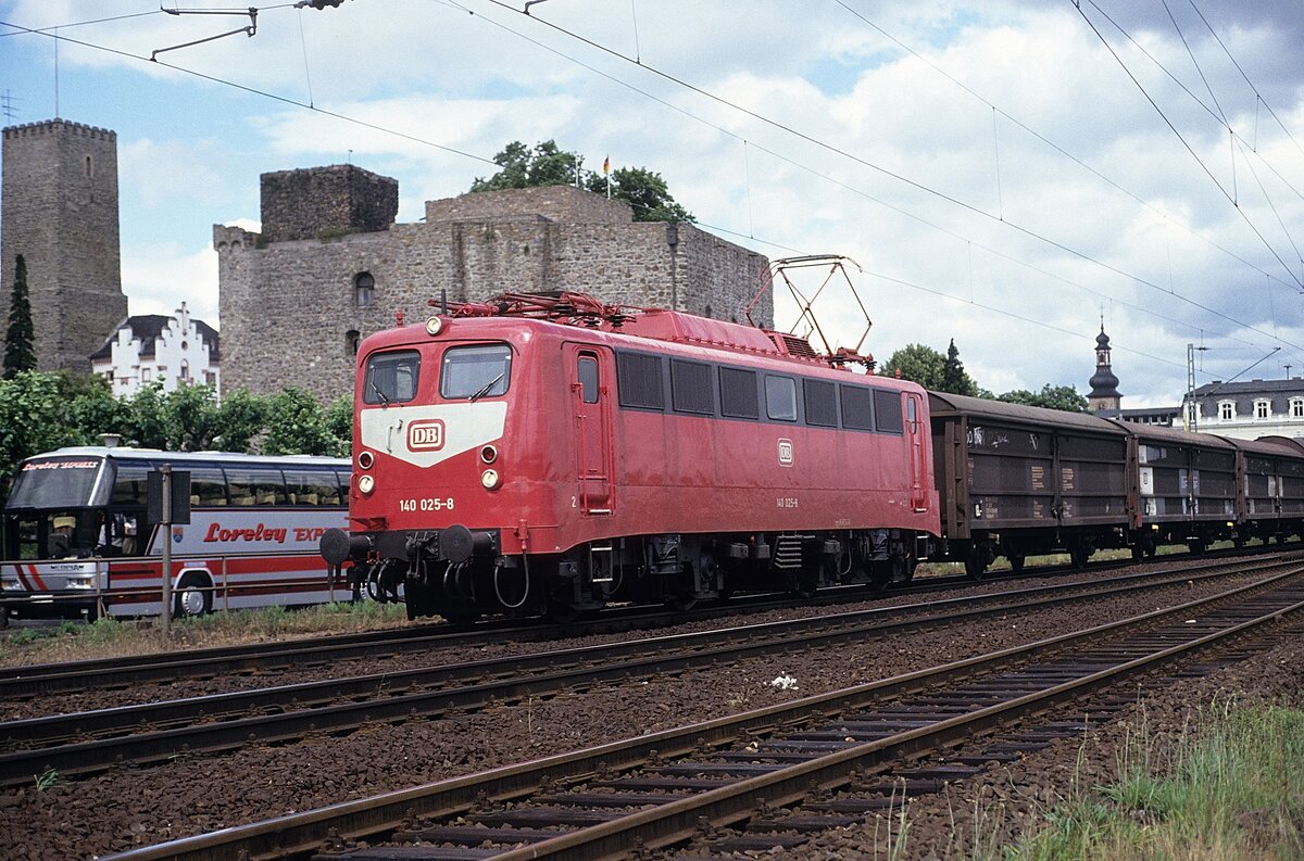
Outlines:
{"label": "green treetops showing above the top of the stone castle", "polygon": [[[542,185],[579,185],[606,194],[606,176],[580,167],[583,159],[561,150],[556,141],[536,143],[531,150],[512,141],[493,156],[502,169],[489,178],[476,177],[472,191],[498,191]],[[660,173],[647,168],[618,168],[612,172],[612,198],[629,203],[635,221],[692,221],[692,214],[670,195]]]}

